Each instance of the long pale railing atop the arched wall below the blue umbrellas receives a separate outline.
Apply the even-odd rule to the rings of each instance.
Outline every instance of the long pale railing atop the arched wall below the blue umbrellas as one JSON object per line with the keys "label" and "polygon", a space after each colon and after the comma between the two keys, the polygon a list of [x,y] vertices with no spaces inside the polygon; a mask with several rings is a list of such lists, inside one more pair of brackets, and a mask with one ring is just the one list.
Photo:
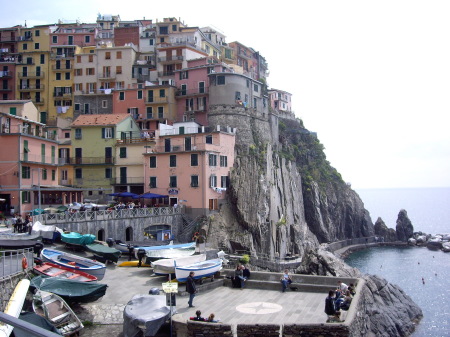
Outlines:
{"label": "long pale railing atop the arched wall below the blue umbrellas", "polygon": [[120,210],[102,211],[77,211],[75,213],[49,213],[34,215],[35,221],[43,224],[53,224],[61,222],[84,222],[108,219],[146,218],[149,216],[176,215],[181,214],[181,208],[175,207],[149,207],[149,208],[125,208]]}

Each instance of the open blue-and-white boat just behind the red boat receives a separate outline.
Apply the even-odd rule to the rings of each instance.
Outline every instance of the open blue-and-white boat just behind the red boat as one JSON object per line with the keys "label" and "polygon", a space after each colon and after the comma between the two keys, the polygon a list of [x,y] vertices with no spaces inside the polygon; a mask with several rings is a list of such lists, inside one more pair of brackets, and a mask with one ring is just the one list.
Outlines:
{"label": "open blue-and-white boat just behind the red boat", "polygon": [[98,280],[102,280],[105,276],[106,266],[98,261],[49,248],[44,248],[41,255],[44,261],[91,274]]}

